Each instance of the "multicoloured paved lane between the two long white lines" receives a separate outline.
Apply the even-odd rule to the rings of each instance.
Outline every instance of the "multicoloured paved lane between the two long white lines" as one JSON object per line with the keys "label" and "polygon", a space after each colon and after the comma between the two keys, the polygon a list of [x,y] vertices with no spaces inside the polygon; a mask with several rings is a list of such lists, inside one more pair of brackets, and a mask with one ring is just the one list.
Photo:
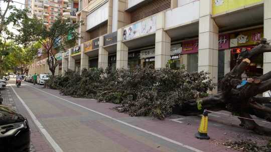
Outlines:
{"label": "multicoloured paved lane between the two long white lines", "polygon": [[11,87],[55,151],[200,151],[129,124],[128,116],[113,118],[31,83]]}

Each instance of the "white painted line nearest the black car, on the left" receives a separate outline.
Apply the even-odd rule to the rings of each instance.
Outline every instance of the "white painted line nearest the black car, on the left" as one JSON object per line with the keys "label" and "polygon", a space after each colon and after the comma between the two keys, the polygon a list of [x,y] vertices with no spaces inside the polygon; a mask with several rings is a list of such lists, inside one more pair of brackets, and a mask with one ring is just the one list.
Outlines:
{"label": "white painted line nearest the black car, on the left", "polygon": [[18,95],[18,93],[15,91],[15,89],[11,86],[12,90],[16,94],[16,96],[19,98],[19,100],[22,102],[22,104],[27,109],[28,113],[30,114],[31,118],[33,119],[34,123],[37,125],[37,127],[41,130],[43,135],[46,137],[48,142],[52,145],[52,147],[55,149],[56,152],[63,152],[63,150],[60,148],[60,146],[56,143],[56,141],[51,137],[51,135],[47,132],[47,130],[43,127],[41,122],[38,120],[38,118],[34,115],[34,113],[30,110],[30,108],[27,106],[27,104],[24,102],[24,100]]}

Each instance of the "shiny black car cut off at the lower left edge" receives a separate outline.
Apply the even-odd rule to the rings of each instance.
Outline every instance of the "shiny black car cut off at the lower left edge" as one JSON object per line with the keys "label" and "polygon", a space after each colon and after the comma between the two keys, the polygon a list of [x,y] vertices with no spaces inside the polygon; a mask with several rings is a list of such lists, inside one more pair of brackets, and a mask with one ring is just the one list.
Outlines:
{"label": "shiny black car cut off at the lower left edge", "polygon": [[30,128],[27,119],[0,105],[0,152],[29,152]]}

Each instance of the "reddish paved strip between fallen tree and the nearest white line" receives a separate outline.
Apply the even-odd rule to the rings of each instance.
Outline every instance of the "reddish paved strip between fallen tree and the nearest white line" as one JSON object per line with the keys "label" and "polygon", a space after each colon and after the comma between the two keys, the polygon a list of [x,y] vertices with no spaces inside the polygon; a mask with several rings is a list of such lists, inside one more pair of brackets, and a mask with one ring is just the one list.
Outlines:
{"label": "reddish paved strip between fallen tree and the nearest white line", "polygon": [[[112,110],[112,107],[116,106],[116,104],[99,103],[95,99],[63,96],[59,94],[58,90],[43,88],[43,86],[40,85],[36,85],[35,87],[92,110],[125,121],[131,125],[152,131],[203,151],[235,151],[223,145],[223,143],[229,139],[251,139],[253,141],[257,141],[259,144],[265,144],[267,143],[267,140],[270,139],[268,136],[258,135],[247,129],[239,127],[239,120],[237,118],[210,114],[208,134],[211,139],[199,140],[194,137],[194,134],[197,132],[199,126],[200,116],[172,115],[165,120],[158,120],[150,117],[130,117],[125,113],[119,113]],[[65,101],[63,100],[63,102]],[[270,124],[265,124],[265,126],[271,128]]]}

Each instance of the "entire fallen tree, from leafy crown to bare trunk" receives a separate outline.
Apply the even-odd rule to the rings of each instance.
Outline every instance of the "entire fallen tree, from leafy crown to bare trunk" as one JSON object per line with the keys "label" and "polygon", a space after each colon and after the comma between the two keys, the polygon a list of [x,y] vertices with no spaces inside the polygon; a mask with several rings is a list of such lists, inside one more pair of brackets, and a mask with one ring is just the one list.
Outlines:
{"label": "entire fallen tree, from leafy crown to bare trunk", "polygon": [[[243,50],[235,67],[221,82],[222,91],[209,95],[213,89],[207,72],[189,73],[184,69],[135,68],[103,70],[83,69],[82,74],[68,70],[64,76],[53,77],[47,86],[63,95],[96,98],[101,102],[119,104],[116,110],[131,116],[153,116],[164,119],[172,113],[201,114],[204,109],[227,110],[240,117],[251,115],[271,121],[271,97],[256,97],[271,88],[271,71],[253,77],[245,85],[241,74],[257,55],[271,51],[266,40],[250,51]],[[209,95],[209,96],[208,96]],[[260,134],[271,135],[271,129],[259,126],[251,119],[240,118],[241,126]]]}

